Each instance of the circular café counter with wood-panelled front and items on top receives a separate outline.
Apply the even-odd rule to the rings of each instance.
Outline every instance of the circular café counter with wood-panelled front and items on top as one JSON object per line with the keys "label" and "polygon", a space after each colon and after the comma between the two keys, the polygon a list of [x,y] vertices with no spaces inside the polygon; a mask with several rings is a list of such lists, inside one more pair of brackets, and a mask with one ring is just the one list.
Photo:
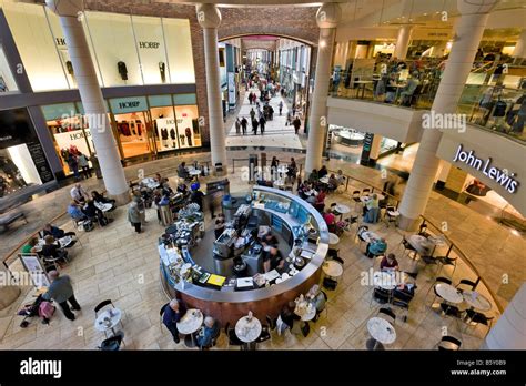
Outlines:
{"label": "circular caf\u00e9 counter with wood-panelled front and items on top", "polygon": [[[235,323],[250,311],[261,319],[266,315],[276,317],[286,303],[320,282],[328,250],[327,226],[305,201],[264,186],[253,187],[247,196],[252,209],[247,226],[267,226],[287,244],[286,251],[281,248],[286,257],[284,272],[260,271],[262,251],[257,243],[247,243],[242,253],[237,252],[246,267],[237,272],[242,275],[229,280],[196,264],[191,243],[166,240],[165,235],[159,242],[161,282],[166,296],[182,299],[189,307],[201,309],[223,325]],[[246,240],[247,233],[253,231],[247,226],[236,230],[240,237]]]}

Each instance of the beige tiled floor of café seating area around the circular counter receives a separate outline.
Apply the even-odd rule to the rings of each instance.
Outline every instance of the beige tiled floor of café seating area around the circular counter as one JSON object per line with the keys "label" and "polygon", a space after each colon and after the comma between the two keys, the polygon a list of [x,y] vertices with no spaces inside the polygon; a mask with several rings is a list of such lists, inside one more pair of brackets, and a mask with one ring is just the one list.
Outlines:
{"label": "beige tiled floor of caf\u00e9 seating area around the circular counter", "polygon": [[[233,192],[249,189],[239,173],[231,174],[230,179]],[[327,203],[333,201],[354,207],[347,195],[332,195]],[[99,302],[111,298],[124,312],[124,349],[185,349],[183,343],[173,343],[170,333],[160,326],[159,309],[168,301],[160,287],[155,246],[162,227],[158,224],[153,210],[148,211],[148,220],[145,232],[136,235],[125,220],[125,209],[120,207],[117,210],[115,221],[107,227],[80,233],[82,245],[72,248],[73,261],[63,271],[72,277],[75,295],[83,307],[78,313],[78,318],[70,322],[58,311],[48,326],[33,319],[29,327],[20,328],[21,317],[13,315],[21,304],[31,302],[31,292],[28,292],[26,298],[20,298],[8,316],[0,318],[0,348],[94,349],[104,335],[93,327],[93,307]],[[63,223],[65,227],[71,224],[65,220],[60,222],[61,225]],[[208,227],[210,225],[206,224]],[[399,256],[401,267],[413,270],[414,262],[402,256],[402,233],[384,224],[372,225],[372,228],[386,237],[388,252]],[[327,292],[327,311],[312,324],[311,334],[307,337],[290,333],[281,337],[273,335],[272,341],[261,344],[260,348],[364,349],[365,341],[370,337],[366,321],[378,309],[375,302],[371,303],[372,287],[364,285],[362,281],[373,261],[363,255],[354,242],[354,233],[343,235],[338,248],[345,260],[344,275],[340,278],[336,291]],[[433,272],[434,268],[429,267],[421,271],[408,321],[396,321],[397,339],[387,348],[433,348],[444,332],[458,336],[463,341],[463,348],[481,346],[484,328],[465,331],[465,326],[461,326],[457,321],[443,317],[431,309],[433,292],[426,295],[432,285]],[[464,264],[459,265],[455,277],[462,275],[468,275]],[[395,312],[397,315],[403,314],[397,308]],[[229,348],[224,334],[215,348]]]}

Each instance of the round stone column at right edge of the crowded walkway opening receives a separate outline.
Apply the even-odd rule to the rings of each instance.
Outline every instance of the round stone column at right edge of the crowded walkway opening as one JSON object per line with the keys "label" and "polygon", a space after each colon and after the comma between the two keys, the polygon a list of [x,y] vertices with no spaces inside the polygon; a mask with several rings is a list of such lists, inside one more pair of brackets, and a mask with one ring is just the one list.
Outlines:
{"label": "round stone column at right edge of the crowded walkway opening", "polygon": [[336,3],[324,3],[316,13],[317,27],[320,27],[320,41],[316,58],[316,73],[314,79],[314,93],[311,102],[311,114],[308,116],[308,142],[305,161],[305,175],[313,169],[322,166],[324,139],[327,131],[327,95],[328,81],[331,78],[331,59],[333,55],[334,37],[336,24],[341,18],[342,10]]}

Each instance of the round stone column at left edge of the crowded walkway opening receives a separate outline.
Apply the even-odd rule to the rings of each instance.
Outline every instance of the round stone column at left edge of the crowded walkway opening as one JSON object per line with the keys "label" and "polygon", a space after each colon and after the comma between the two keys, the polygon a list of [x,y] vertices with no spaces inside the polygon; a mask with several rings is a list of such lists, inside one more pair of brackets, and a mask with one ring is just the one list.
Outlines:
{"label": "round stone column at left edge of the crowded walkway opening", "polygon": [[226,148],[224,143],[223,106],[221,104],[221,80],[218,51],[218,27],[221,13],[214,4],[196,6],[198,21],[203,29],[204,65],[206,69],[206,101],[209,104],[210,152],[212,166],[221,163],[226,172]]}

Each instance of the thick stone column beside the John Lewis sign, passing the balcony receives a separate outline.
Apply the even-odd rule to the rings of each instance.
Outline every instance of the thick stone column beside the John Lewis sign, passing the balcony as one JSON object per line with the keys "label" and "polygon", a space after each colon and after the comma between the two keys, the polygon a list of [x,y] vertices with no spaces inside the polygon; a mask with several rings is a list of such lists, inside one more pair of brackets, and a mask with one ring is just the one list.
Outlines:
{"label": "thick stone column beside the John Lewis sign, passing the balcony", "polygon": [[[477,2],[482,4],[476,4],[471,0],[457,0],[461,17],[455,26],[456,39],[433,102],[432,110],[435,114],[456,111],[486,26],[488,12],[497,0]],[[436,156],[441,138],[442,132],[438,129],[423,129],[421,145],[398,207],[401,212],[399,227],[403,230],[413,230],[418,222],[418,216],[425,211],[441,163]]]}

